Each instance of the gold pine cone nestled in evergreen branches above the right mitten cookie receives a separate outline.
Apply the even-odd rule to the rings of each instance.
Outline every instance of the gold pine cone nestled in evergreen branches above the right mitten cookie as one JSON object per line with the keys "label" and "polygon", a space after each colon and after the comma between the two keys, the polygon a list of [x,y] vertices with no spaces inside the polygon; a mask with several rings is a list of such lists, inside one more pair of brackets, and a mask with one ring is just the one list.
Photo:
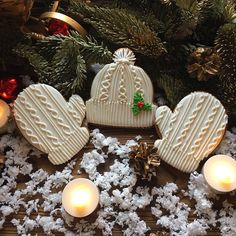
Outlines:
{"label": "gold pine cone nestled in evergreen branches above the right mitten cookie", "polygon": [[197,48],[189,58],[188,73],[198,81],[207,81],[217,75],[220,67],[220,59],[212,48]]}

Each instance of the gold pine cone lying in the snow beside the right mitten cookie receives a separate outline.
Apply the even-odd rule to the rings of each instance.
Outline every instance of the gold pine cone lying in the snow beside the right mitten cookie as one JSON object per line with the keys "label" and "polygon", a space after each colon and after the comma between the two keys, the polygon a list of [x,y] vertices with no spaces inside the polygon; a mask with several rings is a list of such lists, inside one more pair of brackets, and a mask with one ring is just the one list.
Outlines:
{"label": "gold pine cone lying in the snow beside the right mitten cookie", "polygon": [[144,178],[152,175],[161,162],[157,149],[146,142],[140,142],[139,145],[132,146],[129,158],[137,174],[143,175]]}

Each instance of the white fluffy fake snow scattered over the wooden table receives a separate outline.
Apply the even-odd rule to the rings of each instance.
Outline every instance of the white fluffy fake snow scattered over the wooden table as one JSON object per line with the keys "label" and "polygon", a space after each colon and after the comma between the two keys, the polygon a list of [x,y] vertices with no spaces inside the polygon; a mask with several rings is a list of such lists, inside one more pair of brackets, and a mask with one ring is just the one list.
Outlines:
{"label": "white fluffy fake snow scattered over the wooden table", "polygon": [[[227,131],[216,153],[236,158],[236,134],[233,131]],[[24,209],[23,219],[11,220],[21,236],[30,236],[39,228],[46,235],[60,232],[66,236],[91,236],[96,235],[96,229],[100,229],[103,235],[112,235],[115,226],[119,226],[125,236],[141,236],[150,228],[139,216],[138,209],[147,208],[156,217],[157,225],[170,231],[171,235],[207,235],[207,229],[212,227],[218,227],[222,235],[236,235],[235,206],[224,201],[220,210],[213,210],[218,196],[206,184],[202,174],[192,173],[184,190],[175,183],[155,187],[138,185],[134,169],[129,166],[128,153],[141,138],[137,136],[122,145],[116,138],[105,137],[98,129],[91,132],[94,150],[84,153],[79,173],[85,171],[99,187],[100,207],[94,213],[95,220],[88,222],[75,220],[61,205],[62,190],[73,178],[76,161],[51,175],[43,169],[34,170],[29,160],[42,154],[19,136],[2,136],[0,150],[7,158],[0,178],[0,228],[4,227],[7,217],[17,216],[19,210]],[[108,157],[113,160],[109,169],[98,171]],[[19,188],[18,180],[22,176],[26,183]],[[194,209],[190,209],[188,201],[181,199],[194,201]]]}

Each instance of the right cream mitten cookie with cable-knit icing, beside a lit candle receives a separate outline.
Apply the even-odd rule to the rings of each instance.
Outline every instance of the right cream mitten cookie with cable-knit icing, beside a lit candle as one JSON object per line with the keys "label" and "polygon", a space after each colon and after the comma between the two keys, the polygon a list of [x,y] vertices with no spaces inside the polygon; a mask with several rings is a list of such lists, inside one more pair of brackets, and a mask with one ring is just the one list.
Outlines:
{"label": "right cream mitten cookie with cable-knit icing, beside a lit candle", "polygon": [[215,97],[194,92],[184,97],[174,112],[162,106],[156,110],[156,126],[162,139],[155,147],[164,161],[192,172],[220,143],[228,117]]}

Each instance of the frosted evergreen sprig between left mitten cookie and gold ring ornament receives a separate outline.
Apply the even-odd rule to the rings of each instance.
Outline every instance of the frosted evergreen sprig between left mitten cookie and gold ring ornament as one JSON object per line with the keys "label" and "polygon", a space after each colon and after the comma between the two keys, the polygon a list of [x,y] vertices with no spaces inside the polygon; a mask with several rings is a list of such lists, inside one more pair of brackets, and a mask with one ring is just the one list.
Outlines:
{"label": "frosted evergreen sprig between left mitten cookie and gold ring ornament", "polygon": [[39,82],[52,85],[66,97],[82,88],[91,63],[108,63],[112,58],[107,47],[91,37],[84,39],[77,32],[49,36],[31,44],[31,41],[20,43],[15,52],[29,60]]}

